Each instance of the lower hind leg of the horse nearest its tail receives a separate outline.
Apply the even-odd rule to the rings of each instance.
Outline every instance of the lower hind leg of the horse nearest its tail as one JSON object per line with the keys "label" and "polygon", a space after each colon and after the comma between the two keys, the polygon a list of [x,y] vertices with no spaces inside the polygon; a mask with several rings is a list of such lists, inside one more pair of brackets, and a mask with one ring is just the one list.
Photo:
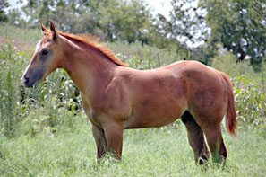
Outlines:
{"label": "lower hind leg of the horse nearest its tail", "polygon": [[225,163],[227,159],[227,149],[223,142],[220,125],[204,128],[204,133],[207,138],[208,145],[213,160],[216,163]]}

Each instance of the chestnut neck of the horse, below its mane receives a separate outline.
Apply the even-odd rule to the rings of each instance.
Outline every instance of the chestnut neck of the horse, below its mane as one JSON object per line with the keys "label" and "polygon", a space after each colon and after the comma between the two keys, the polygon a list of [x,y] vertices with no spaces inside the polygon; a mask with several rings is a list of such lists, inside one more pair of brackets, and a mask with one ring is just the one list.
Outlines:
{"label": "chestnut neck of the horse, below its mane", "polygon": [[90,95],[90,92],[95,90],[93,87],[107,84],[114,75],[116,65],[90,47],[82,49],[82,46],[66,41],[64,56],[62,67],[85,95]]}

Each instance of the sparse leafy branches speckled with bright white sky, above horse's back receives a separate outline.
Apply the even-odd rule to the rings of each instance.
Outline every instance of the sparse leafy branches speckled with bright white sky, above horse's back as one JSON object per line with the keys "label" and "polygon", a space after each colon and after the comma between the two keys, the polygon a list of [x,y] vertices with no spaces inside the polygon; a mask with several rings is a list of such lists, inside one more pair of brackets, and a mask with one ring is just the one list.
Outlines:
{"label": "sparse leafy branches speckled with bright white sky, above horse's back", "polygon": [[177,1],[172,0],[172,10],[169,13],[169,20],[159,14],[162,25],[169,38],[182,40],[183,43],[193,44],[206,40],[208,28],[204,20],[206,12],[202,7],[197,6],[197,0]]}

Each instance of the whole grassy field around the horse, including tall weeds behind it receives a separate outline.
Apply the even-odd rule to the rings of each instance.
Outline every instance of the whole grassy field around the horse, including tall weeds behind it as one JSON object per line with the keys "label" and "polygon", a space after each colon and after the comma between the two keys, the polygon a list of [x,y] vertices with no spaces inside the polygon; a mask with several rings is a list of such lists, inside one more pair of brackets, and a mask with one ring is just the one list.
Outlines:
{"label": "whole grassy field around the horse, including tall weeds behind it", "polygon": [[[211,62],[231,76],[236,95],[239,131],[234,141],[223,133],[226,166],[211,161],[196,166],[179,120],[165,128],[125,130],[123,160],[116,162],[107,156],[103,164],[97,164],[91,124],[81,109],[73,109],[73,83],[63,70],[37,89],[21,92],[21,75],[40,37],[39,30],[0,27],[0,176],[266,175],[265,77],[263,72],[254,73],[247,62],[236,65],[229,53]],[[150,48],[138,42],[107,45],[139,69],[182,58],[175,49]]]}

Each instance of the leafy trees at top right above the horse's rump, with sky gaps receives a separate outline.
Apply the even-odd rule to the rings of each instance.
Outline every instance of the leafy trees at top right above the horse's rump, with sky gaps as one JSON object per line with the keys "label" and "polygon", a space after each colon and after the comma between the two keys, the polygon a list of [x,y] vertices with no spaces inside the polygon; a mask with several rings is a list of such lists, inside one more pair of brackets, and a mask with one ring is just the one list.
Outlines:
{"label": "leafy trees at top right above the horse's rump, with sky gaps", "polygon": [[[266,5],[262,0],[172,0],[171,4],[169,19],[158,15],[158,31],[165,37],[189,45],[188,49],[204,44],[193,51],[201,54],[205,64],[219,49],[227,49],[237,61],[249,59],[254,70],[260,71],[266,54]],[[193,55],[193,59],[199,58]]]}

